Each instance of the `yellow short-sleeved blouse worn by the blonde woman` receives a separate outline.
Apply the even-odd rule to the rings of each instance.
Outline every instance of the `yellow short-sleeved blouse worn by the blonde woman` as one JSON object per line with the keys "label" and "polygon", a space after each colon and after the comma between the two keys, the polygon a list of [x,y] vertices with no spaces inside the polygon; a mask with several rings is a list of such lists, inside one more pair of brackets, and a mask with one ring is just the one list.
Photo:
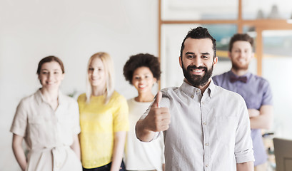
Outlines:
{"label": "yellow short-sleeved blouse worn by the blonde woman", "polygon": [[104,104],[104,95],[86,95],[78,98],[80,111],[81,162],[84,168],[109,164],[114,150],[114,133],[129,130],[128,104],[116,91],[109,103]]}

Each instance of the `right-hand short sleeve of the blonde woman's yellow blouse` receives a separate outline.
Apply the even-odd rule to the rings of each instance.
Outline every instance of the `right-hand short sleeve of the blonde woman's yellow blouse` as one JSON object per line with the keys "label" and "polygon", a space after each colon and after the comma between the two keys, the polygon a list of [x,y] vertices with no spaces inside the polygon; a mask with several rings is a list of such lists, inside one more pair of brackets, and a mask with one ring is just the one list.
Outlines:
{"label": "right-hand short sleeve of the blonde woman's yellow blouse", "polygon": [[129,107],[126,98],[119,96],[114,103],[114,132],[129,130]]}

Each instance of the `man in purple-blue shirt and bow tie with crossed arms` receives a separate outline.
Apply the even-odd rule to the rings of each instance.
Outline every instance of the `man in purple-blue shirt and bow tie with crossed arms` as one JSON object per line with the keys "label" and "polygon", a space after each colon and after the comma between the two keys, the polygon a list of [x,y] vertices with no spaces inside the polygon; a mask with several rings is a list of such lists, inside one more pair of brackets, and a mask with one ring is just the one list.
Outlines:
{"label": "man in purple-blue shirt and bow tie with crossed arms", "polygon": [[268,155],[263,145],[261,129],[270,129],[273,123],[273,96],[266,79],[248,71],[253,58],[253,38],[246,33],[233,35],[229,43],[230,71],[213,77],[216,85],[240,94],[246,101],[251,121],[251,138],[255,170],[266,171]]}

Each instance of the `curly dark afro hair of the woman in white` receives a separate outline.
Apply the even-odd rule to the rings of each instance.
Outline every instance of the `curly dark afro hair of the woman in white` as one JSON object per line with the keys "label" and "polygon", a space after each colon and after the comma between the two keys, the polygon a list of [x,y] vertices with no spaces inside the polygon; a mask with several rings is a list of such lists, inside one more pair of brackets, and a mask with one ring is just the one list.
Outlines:
{"label": "curly dark afro hair of the woman in white", "polygon": [[132,84],[134,71],[142,66],[149,68],[153,77],[156,78],[157,81],[160,79],[161,70],[158,58],[148,53],[139,53],[130,56],[129,60],[126,61],[124,66],[124,76],[126,81],[129,81],[129,83]]}

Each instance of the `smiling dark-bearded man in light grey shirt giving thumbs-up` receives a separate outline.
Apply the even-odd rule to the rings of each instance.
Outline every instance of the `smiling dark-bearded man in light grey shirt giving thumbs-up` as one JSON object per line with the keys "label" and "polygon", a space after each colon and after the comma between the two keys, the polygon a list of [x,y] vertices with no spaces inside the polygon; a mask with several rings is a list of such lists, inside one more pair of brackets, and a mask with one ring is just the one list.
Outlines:
{"label": "smiling dark-bearded man in light grey shirt giving thumbs-up", "polygon": [[178,58],[180,87],[159,91],[136,123],[136,136],[149,142],[163,132],[167,171],[253,170],[246,104],[237,93],[216,86],[216,40],[207,28],[188,31]]}

